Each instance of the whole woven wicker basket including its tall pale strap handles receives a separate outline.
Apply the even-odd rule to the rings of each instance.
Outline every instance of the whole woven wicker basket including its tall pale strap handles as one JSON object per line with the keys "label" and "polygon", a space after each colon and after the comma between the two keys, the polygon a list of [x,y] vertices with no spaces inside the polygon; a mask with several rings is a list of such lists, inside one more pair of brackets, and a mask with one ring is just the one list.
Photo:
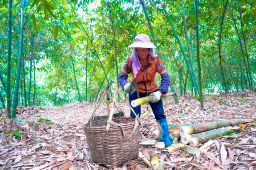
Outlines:
{"label": "whole woven wicker basket including its tall pale strap handles", "polygon": [[[113,114],[117,93],[120,94],[131,109],[132,107],[114,83],[112,83],[112,87],[115,87],[116,90],[111,109],[107,101],[109,116],[94,117],[110,86],[106,88],[105,92],[102,92],[104,94],[99,102],[96,102],[96,107],[90,120],[84,125],[84,132],[92,159],[94,162],[103,164],[106,167],[121,166],[129,160],[138,158],[140,141],[138,115],[136,115],[136,118],[126,118],[123,117],[124,113],[120,111],[116,115]],[[99,97],[100,95],[98,95]],[[136,113],[134,112],[134,114]]]}

